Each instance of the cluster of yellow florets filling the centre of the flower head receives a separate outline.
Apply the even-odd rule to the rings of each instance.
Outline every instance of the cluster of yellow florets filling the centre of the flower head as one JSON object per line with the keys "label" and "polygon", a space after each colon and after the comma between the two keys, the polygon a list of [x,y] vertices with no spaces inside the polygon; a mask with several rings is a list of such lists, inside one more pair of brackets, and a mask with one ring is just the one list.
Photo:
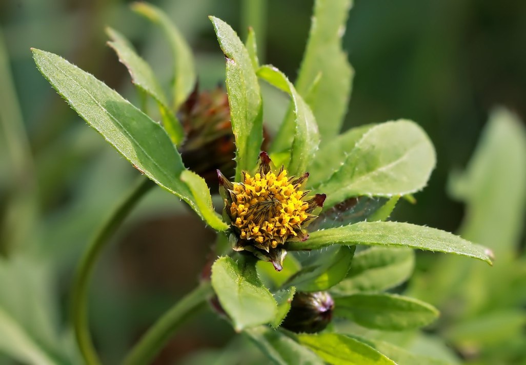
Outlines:
{"label": "cluster of yellow florets filling the centre of the flower head", "polygon": [[240,237],[276,248],[289,237],[297,236],[308,213],[304,192],[289,182],[287,171],[243,174],[242,183],[234,183],[235,194],[230,206],[232,222]]}

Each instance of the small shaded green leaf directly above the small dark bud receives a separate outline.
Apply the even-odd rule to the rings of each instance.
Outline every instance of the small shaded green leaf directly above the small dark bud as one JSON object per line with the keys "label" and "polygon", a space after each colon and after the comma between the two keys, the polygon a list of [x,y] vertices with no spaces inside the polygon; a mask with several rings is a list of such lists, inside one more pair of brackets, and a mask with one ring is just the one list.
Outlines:
{"label": "small shaded green leaf directly above the small dark bud", "polygon": [[299,272],[287,282],[299,291],[321,291],[338,284],[346,277],[355,246],[331,247],[322,255],[311,256]]}

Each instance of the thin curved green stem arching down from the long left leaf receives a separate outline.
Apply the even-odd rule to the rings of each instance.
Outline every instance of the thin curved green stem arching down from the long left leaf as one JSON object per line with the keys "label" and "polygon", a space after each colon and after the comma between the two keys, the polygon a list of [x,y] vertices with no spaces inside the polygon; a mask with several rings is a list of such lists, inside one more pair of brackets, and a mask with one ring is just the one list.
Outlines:
{"label": "thin curved green stem arching down from the long left leaf", "polygon": [[88,326],[87,297],[89,279],[93,273],[97,258],[109,242],[109,238],[117,231],[117,228],[123,223],[136,203],[152,186],[155,186],[155,184],[151,180],[145,176],[140,176],[137,183],[130,189],[123,201],[117,205],[102,227],[100,227],[92,242],[89,243],[77,268],[72,292],[73,326],[78,347],[88,365],[100,364]]}

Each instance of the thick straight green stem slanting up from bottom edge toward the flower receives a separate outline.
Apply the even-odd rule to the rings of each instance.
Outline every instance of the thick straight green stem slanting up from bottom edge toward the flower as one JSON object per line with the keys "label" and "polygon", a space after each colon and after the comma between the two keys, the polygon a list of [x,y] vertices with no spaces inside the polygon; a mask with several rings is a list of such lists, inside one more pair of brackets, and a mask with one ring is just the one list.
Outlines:
{"label": "thick straight green stem slanting up from bottom edge toward the flower", "polygon": [[124,365],[143,365],[150,363],[155,355],[174,335],[177,328],[191,315],[206,306],[213,293],[209,281],[203,281],[197,288],[171,307],[163,317],[145,333],[123,361]]}

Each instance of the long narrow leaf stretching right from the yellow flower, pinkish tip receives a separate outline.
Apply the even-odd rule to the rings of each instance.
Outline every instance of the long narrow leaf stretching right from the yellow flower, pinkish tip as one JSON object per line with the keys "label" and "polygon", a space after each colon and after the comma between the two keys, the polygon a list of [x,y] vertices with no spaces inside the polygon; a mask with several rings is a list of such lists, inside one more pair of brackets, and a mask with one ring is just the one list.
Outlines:
{"label": "long narrow leaf stretching right from the yellow flower, pinkish tip", "polygon": [[488,248],[436,228],[400,222],[360,222],[312,232],[306,242],[290,242],[288,250],[319,249],[332,244],[419,248],[477,258],[492,265]]}

